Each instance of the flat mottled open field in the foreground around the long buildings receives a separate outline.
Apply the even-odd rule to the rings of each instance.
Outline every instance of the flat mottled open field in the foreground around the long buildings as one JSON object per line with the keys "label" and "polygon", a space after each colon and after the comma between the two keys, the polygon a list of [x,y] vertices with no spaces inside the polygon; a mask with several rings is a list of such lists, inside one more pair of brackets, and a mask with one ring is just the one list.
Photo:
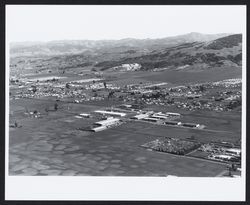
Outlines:
{"label": "flat mottled open field in the foreground around the long buildings", "polygon": [[236,140],[233,132],[217,133],[134,121],[99,133],[84,132],[78,128],[89,126],[96,119],[77,119],[75,115],[101,107],[59,103],[59,107],[69,109],[51,111],[34,119],[20,114],[20,108],[42,110],[44,106],[53,107],[53,101],[20,99],[11,102],[11,109],[18,107],[19,111],[13,112],[10,118],[18,119],[22,125],[10,130],[11,175],[216,176],[226,169],[225,165],[152,152],[139,146],[164,136],[185,139],[195,135],[202,142]]}

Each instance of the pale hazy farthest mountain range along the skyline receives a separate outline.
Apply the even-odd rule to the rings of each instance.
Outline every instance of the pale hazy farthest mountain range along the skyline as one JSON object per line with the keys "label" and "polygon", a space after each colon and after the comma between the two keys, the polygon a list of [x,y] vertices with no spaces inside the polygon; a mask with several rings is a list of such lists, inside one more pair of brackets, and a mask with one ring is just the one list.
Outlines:
{"label": "pale hazy farthest mountain range along the skyline", "polygon": [[124,51],[130,49],[159,49],[166,46],[173,46],[194,41],[204,42],[215,40],[230,34],[201,34],[188,33],[185,35],[161,38],[161,39],[134,39],[126,38],[121,40],[62,40],[49,42],[19,42],[10,44],[10,53],[15,56],[28,55],[64,55],[79,54],[86,51]]}

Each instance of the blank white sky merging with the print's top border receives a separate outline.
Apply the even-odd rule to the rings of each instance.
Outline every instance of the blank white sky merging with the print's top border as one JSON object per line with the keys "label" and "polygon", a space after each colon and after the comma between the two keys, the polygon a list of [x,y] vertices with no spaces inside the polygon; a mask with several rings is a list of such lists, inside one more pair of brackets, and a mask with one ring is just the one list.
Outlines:
{"label": "blank white sky merging with the print's top border", "polygon": [[162,38],[245,32],[245,6],[8,5],[8,41]]}

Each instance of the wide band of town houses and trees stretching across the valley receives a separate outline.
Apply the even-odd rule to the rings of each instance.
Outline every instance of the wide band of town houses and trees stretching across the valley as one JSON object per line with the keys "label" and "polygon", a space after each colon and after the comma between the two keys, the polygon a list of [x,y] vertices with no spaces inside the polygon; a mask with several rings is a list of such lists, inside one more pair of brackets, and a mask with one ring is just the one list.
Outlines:
{"label": "wide band of town houses and trees stretching across the valley", "polygon": [[[127,67],[127,65],[123,66]],[[176,106],[179,109],[186,110],[230,111],[241,106],[240,90],[232,89],[228,92],[222,89],[221,92],[211,92],[211,89],[221,88],[221,86],[223,88],[239,87],[241,86],[241,79],[228,79],[171,88],[168,88],[165,82],[142,82],[120,87],[112,83],[106,83],[104,78],[97,77],[71,82],[61,81],[61,78],[57,76],[41,77],[36,78],[36,80],[27,79],[24,78],[18,82],[11,79],[10,84],[12,86],[18,85],[19,87],[15,88],[22,90],[14,95],[15,98],[52,96],[57,99],[73,99],[75,103],[113,98],[124,103],[137,102],[142,105]],[[211,93],[213,94],[211,95]],[[154,119],[150,118],[144,120],[153,122]]]}

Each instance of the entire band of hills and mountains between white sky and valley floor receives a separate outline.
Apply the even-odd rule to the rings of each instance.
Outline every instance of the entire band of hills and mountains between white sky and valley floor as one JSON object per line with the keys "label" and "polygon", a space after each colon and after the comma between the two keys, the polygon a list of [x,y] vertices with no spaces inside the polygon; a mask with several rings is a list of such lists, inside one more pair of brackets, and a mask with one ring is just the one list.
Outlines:
{"label": "entire band of hills and mountains between white sky and valley floor", "polygon": [[241,67],[242,35],[193,32],[162,39],[12,43],[10,57],[13,65],[22,65],[18,62],[25,58],[41,70],[49,66],[104,71],[122,64],[140,64],[140,70]]}

